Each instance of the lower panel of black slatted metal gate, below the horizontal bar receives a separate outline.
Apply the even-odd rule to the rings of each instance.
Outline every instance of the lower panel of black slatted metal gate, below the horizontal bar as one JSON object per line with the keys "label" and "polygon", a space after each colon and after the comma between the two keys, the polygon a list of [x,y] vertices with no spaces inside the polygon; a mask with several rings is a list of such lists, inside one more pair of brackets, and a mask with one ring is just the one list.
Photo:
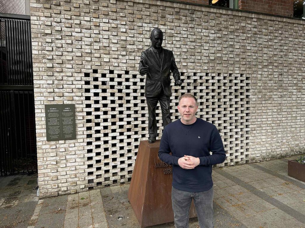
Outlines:
{"label": "lower panel of black slatted metal gate, below the horizontal bar", "polygon": [[0,91],[0,173],[37,170],[32,91]]}

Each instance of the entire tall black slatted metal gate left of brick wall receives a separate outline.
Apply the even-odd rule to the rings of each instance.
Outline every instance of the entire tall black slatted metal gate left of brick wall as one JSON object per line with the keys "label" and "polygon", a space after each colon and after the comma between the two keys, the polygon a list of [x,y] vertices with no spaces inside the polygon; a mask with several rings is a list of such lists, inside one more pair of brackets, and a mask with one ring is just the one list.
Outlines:
{"label": "entire tall black slatted metal gate left of brick wall", "polygon": [[37,171],[30,16],[0,14],[0,175]]}

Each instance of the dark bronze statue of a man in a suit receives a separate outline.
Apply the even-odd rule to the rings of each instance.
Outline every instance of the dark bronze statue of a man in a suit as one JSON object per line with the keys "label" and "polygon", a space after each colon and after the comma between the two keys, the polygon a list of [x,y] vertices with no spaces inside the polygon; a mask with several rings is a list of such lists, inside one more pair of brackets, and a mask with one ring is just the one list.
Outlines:
{"label": "dark bronze statue of a man in a suit", "polygon": [[145,97],[148,106],[148,133],[149,143],[154,143],[157,137],[156,107],[160,102],[163,127],[171,123],[170,119],[170,71],[176,85],[182,81],[178,71],[173,52],[162,48],[163,32],[155,28],[150,34],[152,42],[149,49],[142,52],[139,73],[146,74]]}

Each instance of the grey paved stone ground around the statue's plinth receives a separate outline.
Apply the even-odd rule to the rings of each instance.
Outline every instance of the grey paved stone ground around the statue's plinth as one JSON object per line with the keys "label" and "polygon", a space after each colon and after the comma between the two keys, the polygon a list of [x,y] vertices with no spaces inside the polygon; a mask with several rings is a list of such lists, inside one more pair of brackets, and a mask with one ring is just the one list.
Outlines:
{"label": "grey paved stone ground around the statue's plinth", "polygon": [[[305,183],[287,175],[287,160],[295,158],[214,169],[215,228],[305,228]],[[38,200],[36,180],[0,178],[0,228],[140,227],[127,199],[129,184]],[[199,228],[197,219],[190,228]]]}

